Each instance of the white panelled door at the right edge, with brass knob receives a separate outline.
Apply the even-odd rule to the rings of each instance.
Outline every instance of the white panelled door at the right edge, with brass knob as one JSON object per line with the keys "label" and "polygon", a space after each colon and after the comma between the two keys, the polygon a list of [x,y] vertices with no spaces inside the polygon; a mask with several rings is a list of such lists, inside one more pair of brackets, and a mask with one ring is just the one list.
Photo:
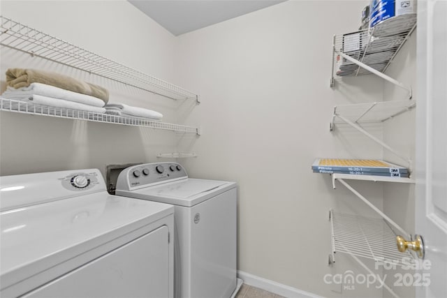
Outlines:
{"label": "white panelled door at the right edge, with brass knob", "polygon": [[416,297],[447,297],[447,1],[418,1],[416,232],[430,285]]}

